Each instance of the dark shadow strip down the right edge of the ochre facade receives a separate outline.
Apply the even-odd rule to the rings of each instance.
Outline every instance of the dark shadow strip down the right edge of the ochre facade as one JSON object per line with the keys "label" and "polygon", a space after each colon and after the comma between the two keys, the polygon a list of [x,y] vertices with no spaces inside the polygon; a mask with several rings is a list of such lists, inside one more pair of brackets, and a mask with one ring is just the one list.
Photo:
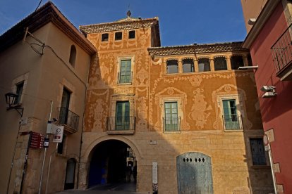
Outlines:
{"label": "dark shadow strip down the right edge of the ochre facade", "polygon": [[[243,136],[245,141],[245,160],[248,166],[248,177],[246,181],[251,193],[273,193],[272,172],[269,167],[269,158],[264,151],[262,137],[264,130],[262,127],[262,115],[259,108],[257,88],[253,71],[234,71],[236,75],[236,85],[244,89],[245,110],[243,110]],[[241,77],[244,73],[249,72],[250,83],[243,82]],[[253,87],[252,87],[253,86]],[[247,90],[248,89],[248,90]],[[242,102],[237,105],[242,106]],[[257,108],[258,107],[258,108]],[[255,110],[256,108],[256,110]],[[250,125],[250,124],[252,125]]]}

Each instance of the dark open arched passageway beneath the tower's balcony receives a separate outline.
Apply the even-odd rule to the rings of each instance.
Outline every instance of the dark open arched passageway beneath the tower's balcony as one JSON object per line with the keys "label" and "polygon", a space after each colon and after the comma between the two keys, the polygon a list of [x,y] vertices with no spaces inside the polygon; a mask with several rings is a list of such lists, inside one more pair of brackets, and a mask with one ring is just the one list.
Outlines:
{"label": "dark open arched passageway beneath the tower's balcony", "polygon": [[[88,163],[89,188],[97,185],[125,183],[130,167],[137,164],[135,153],[130,145],[114,139],[95,145],[88,159],[90,160]],[[131,179],[133,182],[133,175]]]}

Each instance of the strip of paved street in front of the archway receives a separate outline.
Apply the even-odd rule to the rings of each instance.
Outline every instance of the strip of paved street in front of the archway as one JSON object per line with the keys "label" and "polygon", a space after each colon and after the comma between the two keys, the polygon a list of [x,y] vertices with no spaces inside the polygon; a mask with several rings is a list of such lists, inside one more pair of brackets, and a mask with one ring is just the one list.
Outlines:
{"label": "strip of paved street in front of the archway", "polygon": [[[107,185],[93,186],[87,190],[66,190],[58,194],[127,194],[127,193],[136,193],[135,192],[135,183],[111,183]],[[137,193],[137,194],[148,194],[148,193]]]}

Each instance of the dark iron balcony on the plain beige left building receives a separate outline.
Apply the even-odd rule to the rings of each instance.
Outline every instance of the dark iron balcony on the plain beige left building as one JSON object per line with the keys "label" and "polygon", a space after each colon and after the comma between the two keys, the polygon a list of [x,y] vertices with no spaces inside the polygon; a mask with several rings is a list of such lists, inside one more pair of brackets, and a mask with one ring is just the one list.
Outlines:
{"label": "dark iron balcony on the plain beige left building", "polygon": [[69,133],[75,134],[78,131],[79,116],[65,107],[58,108],[58,110],[58,124],[63,125],[64,130],[68,131]]}

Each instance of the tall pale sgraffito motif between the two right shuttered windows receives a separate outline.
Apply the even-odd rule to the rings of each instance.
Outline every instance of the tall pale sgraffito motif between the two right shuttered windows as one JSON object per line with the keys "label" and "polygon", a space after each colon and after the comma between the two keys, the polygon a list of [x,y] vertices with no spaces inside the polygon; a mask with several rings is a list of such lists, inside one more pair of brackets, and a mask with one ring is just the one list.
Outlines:
{"label": "tall pale sgraffito motif between the two right shuttered windows", "polygon": [[196,89],[193,91],[195,94],[193,98],[193,106],[190,113],[188,114],[188,117],[195,121],[197,129],[202,129],[204,127],[204,125],[207,123],[207,118],[211,113],[207,111],[212,110],[211,105],[207,105],[205,96],[202,94],[203,92],[204,89]]}

